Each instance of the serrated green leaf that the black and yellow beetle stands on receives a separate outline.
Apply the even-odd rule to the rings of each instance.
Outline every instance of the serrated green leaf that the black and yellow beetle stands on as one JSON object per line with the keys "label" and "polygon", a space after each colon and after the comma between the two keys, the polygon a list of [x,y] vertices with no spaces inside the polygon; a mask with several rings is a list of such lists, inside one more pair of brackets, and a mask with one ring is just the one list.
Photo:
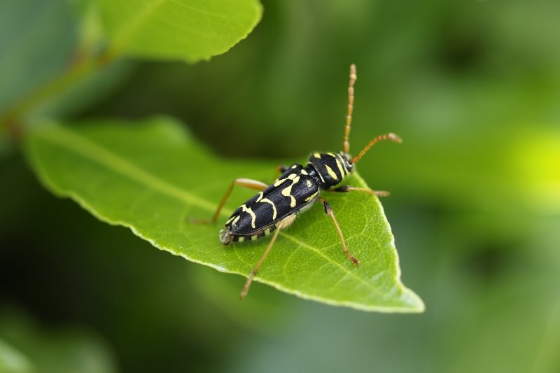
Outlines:
{"label": "serrated green leaf that the black and yellow beetle stands on", "polygon": [[[218,240],[221,225],[254,191],[234,190],[218,225],[190,223],[190,217],[209,218],[233,178],[272,181],[274,164],[217,159],[173,120],[50,124],[30,134],[25,150],[56,195],[193,262],[247,276],[268,244],[260,239],[228,247]],[[358,174],[348,183],[366,186]],[[317,204],[279,235],[255,280],[328,304],[423,311],[420,298],[400,283],[393,234],[379,200],[359,192],[327,198],[359,267],[346,258]]]}

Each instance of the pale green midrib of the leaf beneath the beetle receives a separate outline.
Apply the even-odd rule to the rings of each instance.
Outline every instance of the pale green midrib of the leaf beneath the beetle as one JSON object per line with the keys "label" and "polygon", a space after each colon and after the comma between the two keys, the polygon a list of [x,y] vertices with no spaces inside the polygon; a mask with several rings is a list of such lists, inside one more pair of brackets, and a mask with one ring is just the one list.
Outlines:
{"label": "pale green midrib of the leaf beneath the beetle", "polygon": [[[84,136],[80,136],[76,132],[72,132],[61,126],[52,126],[49,127],[49,129],[49,131],[38,131],[38,136],[43,137],[43,139],[45,139],[46,141],[55,143],[61,148],[65,148],[66,150],[73,151],[78,155],[82,155],[88,160],[97,162],[98,164],[101,164],[102,166],[115,171],[117,174],[126,176],[142,185],[146,185],[153,190],[162,192],[165,195],[169,195],[170,197],[174,197],[183,202],[195,204],[202,209],[207,209],[208,211],[216,211],[216,204],[209,202],[204,198],[198,197],[197,195],[186,192],[181,188],[177,188],[175,185],[169,184],[166,181],[153,176],[153,174],[143,171],[131,162],[125,160],[125,158],[120,157],[116,153],[113,153],[110,150],[97,145],[97,143],[90,141]],[[222,209],[221,211],[221,215],[225,216],[230,216],[231,213],[232,211],[228,209]],[[346,275],[351,276],[353,279],[356,279],[358,282],[363,283],[368,288],[371,288],[372,292],[381,294],[379,290],[373,286],[372,283],[370,283],[369,281],[365,281],[360,276],[356,275],[351,270],[341,265],[339,262],[332,260],[332,258],[329,258],[318,248],[310,246],[309,244],[296,239],[288,233],[281,232],[280,234],[283,237],[290,239],[290,241],[295,242],[295,244],[309,249],[311,252],[330,262],[332,265],[335,265]]]}

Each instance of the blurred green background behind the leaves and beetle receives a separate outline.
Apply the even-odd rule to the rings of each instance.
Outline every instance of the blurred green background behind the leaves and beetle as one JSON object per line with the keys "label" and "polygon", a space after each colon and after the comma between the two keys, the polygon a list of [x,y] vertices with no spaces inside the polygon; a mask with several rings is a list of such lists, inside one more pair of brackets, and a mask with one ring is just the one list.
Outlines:
{"label": "blurred green background behind the leaves and beetle", "polygon": [[[10,61],[3,29],[0,59],[43,76],[55,67],[41,53],[64,62],[75,36],[59,3],[42,22],[36,4],[3,12],[49,44]],[[83,365],[60,356],[85,372],[560,372],[560,2],[262,3],[258,27],[225,55],[130,62],[59,115],[167,114],[222,157],[300,159],[342,146],[356,63],[351,145],[404,139],[359,171],[392,192],[402,279],[426,312],[328,307],[260,284],[239,302],[240,276],[100,223],[5,148],[0,342],[52,372]],[[6,91],[29,90],[8,83],[0,108]]]}

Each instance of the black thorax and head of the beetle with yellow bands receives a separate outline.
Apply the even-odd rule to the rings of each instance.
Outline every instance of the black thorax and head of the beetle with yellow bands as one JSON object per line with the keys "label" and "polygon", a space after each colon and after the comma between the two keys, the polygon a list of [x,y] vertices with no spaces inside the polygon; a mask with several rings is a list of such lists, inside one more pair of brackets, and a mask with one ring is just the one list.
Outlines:
{"label": "black thorax and head of the beetle with yellow bands", "polygon": [[342,182],[342,179],[350,174],[353,169],[349,155],[344,152],[313,153],[309,157],[308,165],[316,170],[318,182],[323,189]]}

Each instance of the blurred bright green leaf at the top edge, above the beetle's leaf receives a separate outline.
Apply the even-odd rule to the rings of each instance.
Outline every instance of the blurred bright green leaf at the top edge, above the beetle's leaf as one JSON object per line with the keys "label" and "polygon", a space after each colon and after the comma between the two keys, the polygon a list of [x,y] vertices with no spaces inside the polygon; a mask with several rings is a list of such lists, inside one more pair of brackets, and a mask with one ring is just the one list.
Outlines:
{"label": "blurred bright green leaf at the top edge, above the beetle's leaf", "polygon": [[196,62],[246,38],[258,0],[99,0],[113,53]]}

